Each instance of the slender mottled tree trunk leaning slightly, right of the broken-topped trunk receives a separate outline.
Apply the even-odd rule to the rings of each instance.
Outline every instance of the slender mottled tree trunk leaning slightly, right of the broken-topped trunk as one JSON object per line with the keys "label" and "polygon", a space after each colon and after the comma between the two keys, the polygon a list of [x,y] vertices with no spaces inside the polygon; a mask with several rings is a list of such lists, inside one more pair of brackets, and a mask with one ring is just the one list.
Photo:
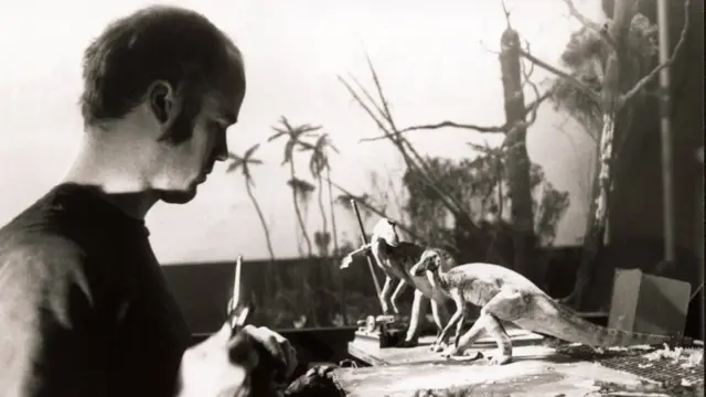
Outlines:
{"label": "slender mottled tree trunk leaning slightly, right of the broken-topped trunk", "polygon": [[593,186],[593,200],[591,210],[595,211],[592,218],[589,217],[589,227],[584,238],[584,253],[581,262],[576,276],[576,282],[571,293],[561,299],[561,302],[571,305],[575,310],[584,308],[585,292],[590,286],[596,272],[597,258],[603,246],[603,237],[607,233],[608,213],[610,204],[610,192],[612,190],[612,163],[613,159],[613,137],[616,122],[618,119],[619,98],[621,88],[629,76],[625,75],[623,62],[627,62],[627,41],[630,33],[630,24],[637,11],[638,0],[616,0],[613,4],[613,20],[608,30],[616,47],[606,62],[606,73],[601,87],[601,112],[603,126],[599,139],[599,161],[596,186]]}

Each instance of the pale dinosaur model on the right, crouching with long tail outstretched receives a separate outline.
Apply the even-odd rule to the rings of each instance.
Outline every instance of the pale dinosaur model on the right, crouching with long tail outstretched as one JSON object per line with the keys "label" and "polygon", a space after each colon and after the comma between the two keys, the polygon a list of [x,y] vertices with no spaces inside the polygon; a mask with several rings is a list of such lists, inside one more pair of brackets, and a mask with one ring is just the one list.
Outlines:
{"label": "pale dinosaur model on the right, crouching with long tail outstretched", "polygon": [[[446,292],[456,302],[457,311],[439,335],[439,339],[446,337],[456,325],[454,343],[442,353],[446,357],[463,354],[485,331],[499,347],[498,355],[490,364],[510,363],[512,342],[501,321],[591,347],[660,344],[674,340],[674,336],[633,333],[596,325],[557,303],[524,276],[502,266],[467,264],[447,270],[440,266],[442,262],[443,259],[436,249],[428,249],[410,272],[416,276],[430,272],[435,289]],[[473,326],[461,335],[467,303],[480,307],[481,313]]]}

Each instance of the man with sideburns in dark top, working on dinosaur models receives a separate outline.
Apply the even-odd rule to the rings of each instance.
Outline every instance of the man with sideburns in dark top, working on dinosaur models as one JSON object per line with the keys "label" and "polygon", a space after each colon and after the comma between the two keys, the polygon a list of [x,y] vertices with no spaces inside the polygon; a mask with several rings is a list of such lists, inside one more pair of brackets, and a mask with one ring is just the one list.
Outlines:
{"label": "man with sideburns in dark top, working on dinosaur models", "polygon": [[232,396],[264,363],[287,378],[295,352],[267,329],[224,325],[188,350],[143,221],[226,159],[237,47],[201,14],[150,7],[88,46],[83,78],[67,178],[0,229],[0,396]]}

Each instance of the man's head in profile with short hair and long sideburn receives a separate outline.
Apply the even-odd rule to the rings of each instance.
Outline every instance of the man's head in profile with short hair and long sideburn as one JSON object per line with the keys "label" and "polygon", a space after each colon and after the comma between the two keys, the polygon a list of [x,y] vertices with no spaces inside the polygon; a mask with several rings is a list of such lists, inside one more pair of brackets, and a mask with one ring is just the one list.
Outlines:
{"label": "man's head in profile with short hair and long sideburn", "polygon": [[245,72],[238,49],[205,17],[159,6],[116,20],[86,49],[83,78],[90,139],[107,155],[128,151],[130,178],[161,200],[191,201],[226,159]]}

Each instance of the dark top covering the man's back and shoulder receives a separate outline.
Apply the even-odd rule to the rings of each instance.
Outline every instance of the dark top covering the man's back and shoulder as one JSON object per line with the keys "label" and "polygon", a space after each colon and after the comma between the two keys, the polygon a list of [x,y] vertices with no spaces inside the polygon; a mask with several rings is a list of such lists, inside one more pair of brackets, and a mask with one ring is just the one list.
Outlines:
{"label": "dark top covering the man's back and shoulder", "polygon": [[190,333],[145,223],[61,184],[0,228],[0,396],[173,396]]}

